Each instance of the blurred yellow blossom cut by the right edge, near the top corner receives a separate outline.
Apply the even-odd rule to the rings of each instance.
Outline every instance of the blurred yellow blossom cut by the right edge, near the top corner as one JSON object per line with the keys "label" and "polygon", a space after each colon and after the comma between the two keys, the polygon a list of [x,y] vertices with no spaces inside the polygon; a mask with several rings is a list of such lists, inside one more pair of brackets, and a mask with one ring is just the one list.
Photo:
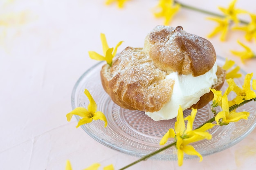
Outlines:
{"label": "blurred yellow blossom cut by the right edge, near the top corner", "polygon": [[249,13],[251,17],[251,22],[249,24],[245,24],[245,26],[235,26],[234,30],[245,31],[245,39],[251,41],[252,38],[256,40],[256,15],[253,13]]}

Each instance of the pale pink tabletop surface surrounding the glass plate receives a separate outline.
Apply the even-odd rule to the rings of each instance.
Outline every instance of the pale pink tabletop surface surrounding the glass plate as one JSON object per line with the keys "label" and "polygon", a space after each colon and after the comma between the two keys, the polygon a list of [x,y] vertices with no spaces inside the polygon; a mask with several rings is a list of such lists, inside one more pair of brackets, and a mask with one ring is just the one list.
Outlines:
{"label": "pale pink tabletop surface surrounding the glass plate", "polygon": [[[185,0],[182,0],[186,2]],[[182,2],[181,1],[181,2]],[[219,12],[229,0],[186,2]],[[88,51],[101,52],[100,33],[114,46],[142,47],[147,33],[162,19],[153,16],[157,0],[131,0],[124,9],[106,6],[103,0],[12,0],[0,2],[0,20],[7,13],[17,15],[9,26],[0,24],[0,164],[4,170],[64,170],[70,159],[73,170],[92,163],[113,164],[116,169],[137,160],[99,144],[81,128],[76,119],[67,122],[70,96],[77,79],[97,61]],[[256,2],[239,0],[236,7],[256,13]],[[181,9],[170,26],[183,26],[189,33],[207,38],[216,23],[209,15]],[[244,19],[249,18],[244,15]],[[17,19],[18,18],[18,19]],[[0,22],[1,23],[1,22]],[[256,51],[256,42],[247,42],[244,33],[232,31],[226,42],[219,36],[209,39],[216,53],[236,61],[247,73],[256,71],[256,60],[245,64],[229,50],[243,50],[241,40]],[[256,79],[256,73],[254,74]],[[256,130],[231,148],[199,159],[184,161],[147,160],[132,170],[244,170],[256,167]],[[101,168],[100,168],[101,169]]]}

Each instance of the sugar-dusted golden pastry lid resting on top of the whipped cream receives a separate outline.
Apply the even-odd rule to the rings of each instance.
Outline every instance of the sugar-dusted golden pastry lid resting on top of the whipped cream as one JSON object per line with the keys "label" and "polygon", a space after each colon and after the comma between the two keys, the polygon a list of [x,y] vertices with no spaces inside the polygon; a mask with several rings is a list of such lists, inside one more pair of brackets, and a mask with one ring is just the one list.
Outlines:
{"label": "sugar-dusted golden pastry lid resting on top of the whipped cream", "polygon": [[194,77],[207,73],[216,62],[208,40],[186,33],[181,26],[157,26],[146,37],[144,49],[154,64],[164,70]]}

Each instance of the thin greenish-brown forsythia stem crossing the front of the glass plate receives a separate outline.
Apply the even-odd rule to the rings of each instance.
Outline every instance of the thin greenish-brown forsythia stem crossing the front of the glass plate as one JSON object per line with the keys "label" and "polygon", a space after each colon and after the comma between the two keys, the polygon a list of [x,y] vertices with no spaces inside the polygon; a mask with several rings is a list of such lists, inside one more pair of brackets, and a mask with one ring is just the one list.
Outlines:
{"label": "thin greenish-brown forsythia stem crossing the front of the glass plate", "polygon": [[[233,105],[233,106],[230,106],[230,107],[229,107],[229,112],[231,112],[232,110],[235,110],[236,108],[238,108],[238,107],[240,107],[240,106],[242,106],[242,105],[244,105],[244,104],[246,104],[246,103],[248,103],[248,102],[251,102],[251,101],[256,102],[256,97],[255,97],[255,98],[252,98],[252,99],[250,99],[250,100],[245,100],[244,102],[242,102],[242,103],[240,103],[240,104],[235,104],[235,105]],[[211,123],[211,122],[213,122],[214,120],[215,120],[215,116],[212,117],[211,119],[205,121],[202,125],[198,126],[198,127],[195,128],[195,129],[198,129],[198,128],[204,126],[204,124]],[[172,147],[172,146],[175,146],[175,144],[176,144],[176,141],[173,142],[173,143],[171,143],[171,144],[168,144],[168,145],[166,145],[166,146],[164,146],[164,147],[162,147],[162,148],[160,148],[159,150],[156,150],[156,151],[154,151],[154,152],[151,152],[151,153],[149,153],[148,155],[145,155],[144,157],[141,157],[141,158],[138,159],[137,161],[134,161],[134,162],[130,163],[129,165],[127,165],[127,166],[125,166],[125,167],[123,167],[123,168],[121,168],[121,169],[119,169],[119,170],[124,170],[124,169],[126,169],[126,168],[129,168],[130,166],[133,166],[133,165],[135,165],[136,163],[139,163],[140,161],[144,161],[144,160],[148,159],[149,157],[152,157],[153,155],[156,155],[156,154],[158,154],[159,152],[162,152],[163,150],[166,150],[166,149],[168,149],[168,148],[170,148],[170,147]]]}

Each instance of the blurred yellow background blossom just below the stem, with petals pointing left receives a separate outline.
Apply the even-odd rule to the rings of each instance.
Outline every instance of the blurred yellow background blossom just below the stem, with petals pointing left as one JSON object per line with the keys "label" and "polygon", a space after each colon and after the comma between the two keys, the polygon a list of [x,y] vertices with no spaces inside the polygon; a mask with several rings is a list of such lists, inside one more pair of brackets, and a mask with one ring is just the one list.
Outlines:
{"label": "blurred yellow background blossom just below the stem, with petals pointing left", "polygon": [[211,17],[208,17],[207,19],[208,20],[213,20],[213,21],[218,23],[218,26],[216,26],[216,28],[213,29],[213,31],[208,35],[208,38],[212,38],[216,34],[221,33],[220,40],[225,41],[226,37],[227,37],[228,30],[229,30],[229,24],[230,24],[229,18],[211,18]]}

